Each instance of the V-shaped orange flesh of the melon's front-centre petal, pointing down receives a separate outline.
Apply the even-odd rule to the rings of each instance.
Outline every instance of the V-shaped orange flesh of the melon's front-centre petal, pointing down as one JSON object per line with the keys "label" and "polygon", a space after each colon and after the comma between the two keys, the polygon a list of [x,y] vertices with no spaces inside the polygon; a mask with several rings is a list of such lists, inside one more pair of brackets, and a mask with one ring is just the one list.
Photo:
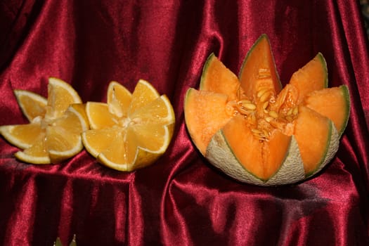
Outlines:
{"label": "V-shaped orange flesh of the melon's front-centre petal, pointing down", "polygon": [[269,141],[259,141],[240,115],[233,117],[222,132],[243,167],[264,181],[278,171],[291,141],[291,136],[278,130],[273,131]]}

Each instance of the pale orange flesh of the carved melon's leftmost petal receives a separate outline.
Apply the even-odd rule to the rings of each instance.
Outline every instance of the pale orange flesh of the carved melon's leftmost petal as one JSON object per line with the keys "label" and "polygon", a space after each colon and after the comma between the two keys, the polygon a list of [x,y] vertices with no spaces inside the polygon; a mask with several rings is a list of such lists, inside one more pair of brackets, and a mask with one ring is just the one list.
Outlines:
{"label": "pale orange flesh of the carved melon's leftmost petal", "polygon": [[231,118],[225,110],[227,98],[224,94],[195,89],[188,89],[186,93],[186,125],[202,155],[212,136]]}

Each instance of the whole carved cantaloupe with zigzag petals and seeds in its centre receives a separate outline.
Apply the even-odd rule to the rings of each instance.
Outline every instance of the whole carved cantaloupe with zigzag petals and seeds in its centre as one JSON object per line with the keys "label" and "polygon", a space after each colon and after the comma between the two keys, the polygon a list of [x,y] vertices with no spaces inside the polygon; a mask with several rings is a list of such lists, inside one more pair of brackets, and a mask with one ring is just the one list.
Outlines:
{"label": "whole carved cantaloupe with zigzag petals and seeds in its centre", "polygon": [[186,127],[200,153],[233,179],[258,186],[304,181],[328,164],[347,126],[347,86],[328,88],[318,53],[281,86],[266,34],[240,74],[211,54],[200,89],[188,89]]}

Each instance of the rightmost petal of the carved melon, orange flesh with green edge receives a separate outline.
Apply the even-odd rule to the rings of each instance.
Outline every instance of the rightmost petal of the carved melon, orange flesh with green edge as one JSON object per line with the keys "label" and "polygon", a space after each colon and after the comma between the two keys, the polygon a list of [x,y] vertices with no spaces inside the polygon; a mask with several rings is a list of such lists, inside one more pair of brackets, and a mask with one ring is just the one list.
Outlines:
{"label": "rightmost petal of the carved melon, orange flesh with green edge", "polygon": [[350,111],[349,89],[342,85],[313,91],[304,100],[304,105],[332,120],[339,136],[346,128]]}

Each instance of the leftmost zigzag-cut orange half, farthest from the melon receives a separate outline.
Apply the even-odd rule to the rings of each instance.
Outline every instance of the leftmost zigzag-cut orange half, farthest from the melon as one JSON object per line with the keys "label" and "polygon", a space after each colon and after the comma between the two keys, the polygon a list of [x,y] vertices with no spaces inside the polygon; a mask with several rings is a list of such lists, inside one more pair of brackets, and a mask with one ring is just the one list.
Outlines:
{"label": "leftmost zigzag-cut orange half, farthest from the melon", "polygon": [[25,90],[15,97],[29,124],[0,127],[0,134],[22,150],[15,157],[32,164],[66,160],[83,149],[81,133],[89,129],[85,107],[75,89],[57,78],[48,80],[48,98]]}

